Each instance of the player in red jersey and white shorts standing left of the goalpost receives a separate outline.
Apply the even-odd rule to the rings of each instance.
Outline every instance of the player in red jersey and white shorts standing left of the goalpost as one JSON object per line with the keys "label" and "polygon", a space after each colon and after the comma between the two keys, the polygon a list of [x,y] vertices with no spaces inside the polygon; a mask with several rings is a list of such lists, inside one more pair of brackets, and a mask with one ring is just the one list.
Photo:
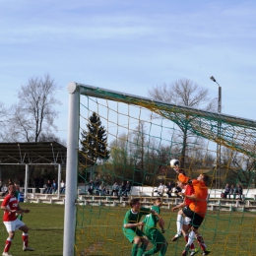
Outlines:
{"label": "player in red jersey and white shorts standing left of the goalpost", "polygon": [[16,214],[26,213],[29,214],[31,211],[28,209],[21,209],[19,206],[18,199],[15,197],[16,187],[14,183],[8,185],[9,194],[5,197],[1,209],[4,211],[4,224],[6,226],[9,237],[6,239],[3,256],[12,256],[9,254],[9,249],[12,244],[12,240],[15,236],[15,230],[20,229],[23,231],[23,250],[33,251],[34,249],[28,246],[29,243],[29,227],[22,221],[18,220]]}

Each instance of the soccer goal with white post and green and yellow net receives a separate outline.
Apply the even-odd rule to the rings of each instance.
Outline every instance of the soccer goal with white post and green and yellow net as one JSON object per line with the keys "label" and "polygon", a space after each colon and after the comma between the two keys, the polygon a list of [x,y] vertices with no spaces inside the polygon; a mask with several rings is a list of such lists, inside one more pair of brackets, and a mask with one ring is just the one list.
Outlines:
{"label": "soccer goal with white post and green and yellow net", "polygon": [[200,232],[211,255],[255,255],[255,121],[77,83],[68,92],[64,256],[130,255],[122,225],[134,197],[162,199],[166,255],[180,255],[171,159],[191,178],[210,176]]}

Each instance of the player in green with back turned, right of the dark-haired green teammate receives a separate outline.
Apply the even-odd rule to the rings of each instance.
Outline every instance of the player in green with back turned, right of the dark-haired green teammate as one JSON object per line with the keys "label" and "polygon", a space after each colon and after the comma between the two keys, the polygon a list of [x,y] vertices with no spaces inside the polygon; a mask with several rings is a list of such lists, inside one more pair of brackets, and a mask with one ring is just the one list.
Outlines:
{"label": "player in green with back turned, right of the dark-haired green teammate", "polygon": [[[160,198],[157,198],[154,201],[154,206],[151,208],[151,210],[155,211],[158,215],[160,215],[160,207],[161,207],[161,200]],[[143,256],[148,256],[148,255],[153,255],[156,252],[160,251],[160,256],[165,255],[166,253],[166,249],[168,246],[167,241],[165,240],[164,236],[162,235],[162,233],[164,233],[164,228],[163,225],[160,225],[161,228],[161,232],[158,229],[158,223],[159,223],[159,219],[156,215],[147,215],[146,218],[143,220],[144,223],[144,231],[145,234],[147,235],[147,237],[149,238],[149,240],[154,244],[154,247],[145,252],[143,254]]]}

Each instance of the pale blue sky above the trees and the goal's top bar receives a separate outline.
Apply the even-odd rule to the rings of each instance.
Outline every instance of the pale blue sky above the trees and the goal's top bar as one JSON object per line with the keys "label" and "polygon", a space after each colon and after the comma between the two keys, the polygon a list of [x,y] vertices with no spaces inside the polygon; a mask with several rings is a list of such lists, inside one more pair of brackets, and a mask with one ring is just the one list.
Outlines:
{"label": "pale blue sky above the trees and the goal's top bar", "polygon": [[255,14],[255,0],[0,0],[0,101],[49,73],[66,139],[69,82],[148,96],[187,78],[218,97],[214,76],[222,112],[255,120]]}

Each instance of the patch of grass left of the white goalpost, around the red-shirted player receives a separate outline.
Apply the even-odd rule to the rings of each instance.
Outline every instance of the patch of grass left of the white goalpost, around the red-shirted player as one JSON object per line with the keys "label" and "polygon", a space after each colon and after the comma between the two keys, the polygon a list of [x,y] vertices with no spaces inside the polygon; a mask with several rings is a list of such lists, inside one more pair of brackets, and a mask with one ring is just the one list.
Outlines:
{"label": "patch of grass left of the white goalpost, around the red-shirted player", "polygon": [[[30,214],[24,215],[23,222],[30,227],[29,245],[35,251],[24,252],[22,250],[22,231],[17,230],[10,254],[14,256],[63,255],[64,206],[24,203],[21,204],[21,208],[31,210]],[[0,244],[2,245],[0,252],[2,252],[8,237],[3,222],[0,222],[0,230]]]}

